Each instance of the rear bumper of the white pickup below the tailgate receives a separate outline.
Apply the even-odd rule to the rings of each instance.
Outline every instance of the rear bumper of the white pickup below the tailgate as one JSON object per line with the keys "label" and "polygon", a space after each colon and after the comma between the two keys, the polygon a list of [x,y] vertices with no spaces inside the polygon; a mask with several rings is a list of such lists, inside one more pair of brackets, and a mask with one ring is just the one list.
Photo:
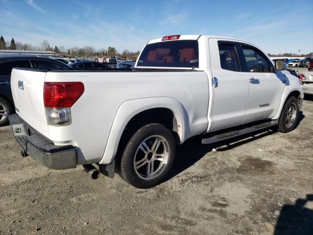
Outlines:
{"label": "rear bumper of the white pickup below the tailgate", "polygon": [[54,145],[19,115],[9,116],[9,122],[16,141],[33,159],[50,169],[69,169],[76,167],[75,148],[72,145]]}

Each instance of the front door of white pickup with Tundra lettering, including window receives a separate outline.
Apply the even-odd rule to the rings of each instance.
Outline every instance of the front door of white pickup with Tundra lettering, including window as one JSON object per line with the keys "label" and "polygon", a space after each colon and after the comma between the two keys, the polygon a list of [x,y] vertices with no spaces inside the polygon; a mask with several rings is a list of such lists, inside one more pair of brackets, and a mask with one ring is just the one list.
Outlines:
{"label": "front door of white pickup with Tundra lettering, including window", "polygon": [[248,44],[239,45],[249,84],[249,99],[244,123],[272,118],[276,115],[286,77],[273,71],[272,63],[258,48]]}

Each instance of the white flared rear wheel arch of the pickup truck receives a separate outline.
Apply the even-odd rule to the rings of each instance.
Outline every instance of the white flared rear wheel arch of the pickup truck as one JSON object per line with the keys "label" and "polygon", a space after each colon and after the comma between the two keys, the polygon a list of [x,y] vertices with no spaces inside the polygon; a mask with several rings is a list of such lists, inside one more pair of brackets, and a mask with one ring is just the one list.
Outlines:
{"label": "white flared rear wheel arch of the pickup truck", "polygon": [[[157,114],[156,118],[146,118],[149,114]],[[159,118],[161,117],[161,118]],[[172,117],[172,123],[169,118]],[[109,138],[99,164],[110,164],[123,140],[127,127],[136,123],[137,126],[147,124],[147,121],[160,122],[168,128],[172,126],[173,133],[179,143],[190,135],[189,118],[183,105],[172,97],[151,97],[128,100],[122,103],[115,115]]]}

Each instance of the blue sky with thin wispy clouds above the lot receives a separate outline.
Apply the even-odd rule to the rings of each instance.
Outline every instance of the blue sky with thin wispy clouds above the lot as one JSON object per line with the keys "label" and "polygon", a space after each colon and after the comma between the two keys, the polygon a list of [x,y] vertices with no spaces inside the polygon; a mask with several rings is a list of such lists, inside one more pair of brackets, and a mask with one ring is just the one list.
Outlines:
{"label": "blue sky with thin wispy clouds above the lot", "polygon": [[165,35],[220,35],[267,53],[309,53],[312,11],[313,0],[0,0],[0,34],[34,46],[119,51]]}

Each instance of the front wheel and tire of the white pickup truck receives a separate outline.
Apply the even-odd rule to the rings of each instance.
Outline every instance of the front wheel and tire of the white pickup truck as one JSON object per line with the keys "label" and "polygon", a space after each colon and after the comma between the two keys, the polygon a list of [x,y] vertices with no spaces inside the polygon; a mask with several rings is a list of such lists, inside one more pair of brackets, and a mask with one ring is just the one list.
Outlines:
{"label": "front wheel and tire of the white pickup truck", "polygon": [[[294,109],[292,111],[292,114],[290,111],[291,109]],[[282,113],[280,114],[278,120],[278,131],[283,133],[291,132],[297,124],[298,117],[299,117],[299,101],[296,97],[290,96],[286,100]]]}

